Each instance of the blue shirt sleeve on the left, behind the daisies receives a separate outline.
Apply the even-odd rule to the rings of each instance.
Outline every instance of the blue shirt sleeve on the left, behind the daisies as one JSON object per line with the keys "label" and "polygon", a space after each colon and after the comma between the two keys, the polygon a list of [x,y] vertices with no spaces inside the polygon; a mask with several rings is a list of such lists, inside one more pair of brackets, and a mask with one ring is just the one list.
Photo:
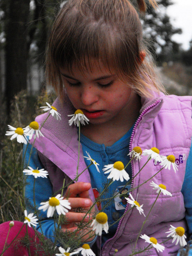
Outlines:
{"label": "blue shirt sleeve on the left, behind the daisies", "polygon": [[[30,162],[28,165],[31,147],[32,146],[30,144],[28,144],[27,148],[26,145],[24,145],[23,147],[23,156],[25,155],[26,150],[25,159],[23,160],[24,167],[27,168],[28,166],[30,166],[34,170],[36,170],[37,168],[44,169],[44,166],[42,165],[35,148],[33,148],[32,150]],[[51,196],[53,196],[53,187],[50,179],[41,177],[35,178],[33,175],[24,175],[24,183],[25,205],[27,213],[35,213],[38,218],[38,223],[41,223],[41,226],[40,224],[36,226],[36,230],[38,230],[40,233],[43,233],[47,238],[54,242],[54,231],[55,225],[57,227],[57,223],[54,223],[53,218],[47,218],[46,211],[38,210],[41,202],[46,202]]]}

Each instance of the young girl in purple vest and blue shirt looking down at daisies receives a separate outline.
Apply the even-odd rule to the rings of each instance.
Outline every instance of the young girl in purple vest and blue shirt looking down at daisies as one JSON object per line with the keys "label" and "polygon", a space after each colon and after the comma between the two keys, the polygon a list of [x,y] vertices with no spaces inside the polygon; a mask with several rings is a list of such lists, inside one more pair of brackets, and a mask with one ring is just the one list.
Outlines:
{"label": "young girl in purple vest and blue shirt looking down at daisies", "polygon": [[[144,0],[137,0],[137,3],[140,12],[144,12]],[[150,0],[150,3],[156,6],[155,0]],[[108,181],[102,171],[104,165],[116,161],[126,165],[130,160],[127,155],[135,146],[143,150],[155,147],[161,155],[174,155],[179,160],[179,171],[175,174],[173,170],[162,170],[154,176],[153,181],[164,184],[172,197],[159,196],[141,234],[155,237],[158,243],[162,243],[167,240],[170,225],[182,226],[185,231],[188,225],[187,234],[192,233],[192,199],[189,196],[192,192],[189,162],[192,159],[192,98],[165,95],[164,88],[156,80],[153,66],[143,43],[139,15],[131,2],[65,2],[53,24],[46,53],[47,81],[58,95],[53,106],[61,114],[61,121],[48,118],[41,129],[44,137],[36,139],[29,164],[33,169],[45,168],[49,175],[48,179],[35,181],[36,207],[54,193],[59,193],[64,179],[68,184],[76,176],[78,130],[75,125],[69,126],[68,115],[80,109],[89,123],[81,126],[78,173],[90,164],[84,158],[86,152],[99,164],[100,172],[92,165],[79,176],[78,182],[68,186],[64,193],[65,197],[70,195],[71,208],[90,208],[94,201],[93,191],[102,191]],[[40,126],[47,115],[36,118]],[[26,162],[29,152],[30,148]],[[133,160],[128,165],[126,172],[130,179],[145,163],[146,157],[143,156],[141,161]],[[149,161],[127,190],[141,185],[161,167]],[[33,181],[34,177],[28,176],[25,188],[27,209],[32,212]],[[101,206],[125,184],[126,181],[115,181],[101,198]],[[149,184],[150,181],[131,192],[135,199],[138,194],[137,201],[143,204],[146,215],[157,197]],[[130,204],[125,207],[123,204],[117,206],[114,201],[109,204],[104,209],[109,225],[129,209]],[[42,229],[38,226],[37,230],[53,241],[54,220],[47,218],[42,210],[39,215]],[[61,225],[61,228],[64,233],[70,233],[75,231],[75,223],[80,222],[84,214],[71,210],[66,216],[69,224]],[[117,256],[130,255],[143,221],[144,217],[133,208],[109,228],[108,234],[102,234],[102,238],[85,235],[82,242],[89,243],[96,255],[114,255],[115,249],[118,249]],[[172,239],[163,245],[163,253],[153,248],[140,255],[177,255],[180,249]],[[144,247],[145,240],[139,238],[135,251]]]}

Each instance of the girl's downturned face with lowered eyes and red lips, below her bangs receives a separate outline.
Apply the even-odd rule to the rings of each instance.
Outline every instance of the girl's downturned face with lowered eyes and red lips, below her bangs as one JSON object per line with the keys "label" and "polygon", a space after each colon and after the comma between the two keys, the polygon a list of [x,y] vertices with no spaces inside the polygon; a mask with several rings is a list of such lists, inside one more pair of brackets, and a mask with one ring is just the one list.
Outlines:
{"label": "girl's downturned face with lowered eyes and red lips, below her bangs", "polygon": [[93,61],[92,64],[92,72],[88,69],[82,73],[76,65],[72,67],[73,74],[68,69],[60,69],[74,108],[81,109],[92,124],[126,120],[132,89],[101,63]]}

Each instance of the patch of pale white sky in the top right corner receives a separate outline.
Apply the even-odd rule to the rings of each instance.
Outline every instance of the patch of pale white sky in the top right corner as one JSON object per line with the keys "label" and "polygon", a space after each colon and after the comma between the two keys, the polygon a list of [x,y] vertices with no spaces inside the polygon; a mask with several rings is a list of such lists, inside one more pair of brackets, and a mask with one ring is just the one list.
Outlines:
{"label": "patch of pale white sky in the top right corner", "polygon": [[172,0],[166,12],[171,18],[174,27],[181,28],[181,35],[174,35],[175,42],[182,43],[182,48],[189,48],[189,41],[192,40],[192,0]]}

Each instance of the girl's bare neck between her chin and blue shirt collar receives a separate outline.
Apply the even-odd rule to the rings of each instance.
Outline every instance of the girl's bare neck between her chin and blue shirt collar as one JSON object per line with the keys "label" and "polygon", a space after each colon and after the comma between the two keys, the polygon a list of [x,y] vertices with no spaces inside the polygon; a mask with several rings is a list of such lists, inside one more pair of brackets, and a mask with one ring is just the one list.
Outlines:
{"label": "girl's bare neck between her chin and blue shirt collar", "polygon": [[81,132],[95,143],[112,146],[131,129],[139,116],[140,109],[141,98],[134,93],[130,99],[129,111],[126,111],[123,116],[116,116],[115,121],[113,119],[102,124],[89,123],[81,126]]}

